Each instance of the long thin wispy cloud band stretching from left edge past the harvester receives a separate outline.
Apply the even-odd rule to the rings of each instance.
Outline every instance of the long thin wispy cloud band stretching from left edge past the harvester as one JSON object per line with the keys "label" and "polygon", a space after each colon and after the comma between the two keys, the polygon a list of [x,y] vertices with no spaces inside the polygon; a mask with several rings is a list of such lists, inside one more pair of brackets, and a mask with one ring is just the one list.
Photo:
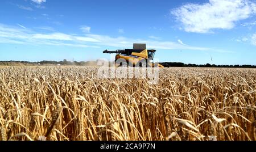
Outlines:
{"label": "long thin wispy cloud band stretching from left edge past the harvester", "polygon": [[[37,28],[35,28],[37,29]],[[71,35],[67,33],[52,32],[42,33],[31,29],[20,28],[19,26],[11,27],[0,24],[0,43],[20,43],[26,45],[56,45],[70,47],[115,47],[115,48],[131,48],[133,43],[146,43],[149,49],[165,49],[165,50],[207,50],[216,51],[215,49],[194,47],[181,44],[180,41],[159,41],[152,39],[131,39],[128,37],[112,37],[107,35],[96,34],[80,34]]]}

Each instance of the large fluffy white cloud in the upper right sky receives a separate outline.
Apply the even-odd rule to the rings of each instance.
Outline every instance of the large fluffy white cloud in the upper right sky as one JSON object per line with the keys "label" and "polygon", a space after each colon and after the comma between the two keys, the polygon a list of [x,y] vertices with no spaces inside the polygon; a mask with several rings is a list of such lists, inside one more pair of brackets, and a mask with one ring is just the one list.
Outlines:
{"label": "large fluffy white cloud in the upper right sky", "polygon": [[187,32],[208,33],[211,29],[232,29],[236,22],[256,14],[256,4],[249,0],[209,0],[188,3],[171,11]]}

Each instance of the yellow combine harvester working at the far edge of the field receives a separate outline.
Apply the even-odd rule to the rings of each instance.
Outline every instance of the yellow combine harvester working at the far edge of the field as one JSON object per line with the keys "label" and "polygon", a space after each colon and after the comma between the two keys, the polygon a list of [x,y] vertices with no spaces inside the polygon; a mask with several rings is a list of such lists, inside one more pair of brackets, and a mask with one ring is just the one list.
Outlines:
{"label": "yellow combine harvester working at the far edge of the field", "polygon": [[[146,44],[133,44],[133,49],[104,50],[103,53],[117,53],[115,56],[116,66],[155,67],[153,60],[156,50],[146,49]],[[158,67],[164,67],[158,64]]]}

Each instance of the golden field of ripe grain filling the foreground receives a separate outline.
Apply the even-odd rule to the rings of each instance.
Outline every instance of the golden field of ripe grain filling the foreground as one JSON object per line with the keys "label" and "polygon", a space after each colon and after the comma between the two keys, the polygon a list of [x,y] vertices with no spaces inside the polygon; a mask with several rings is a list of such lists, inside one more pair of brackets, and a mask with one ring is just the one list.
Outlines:
{"label": "golden field of ripe grain filling the foreground", "polygon": [[97,79],[97,67],[1,66],[0,140],[256,140],[256,69]]}

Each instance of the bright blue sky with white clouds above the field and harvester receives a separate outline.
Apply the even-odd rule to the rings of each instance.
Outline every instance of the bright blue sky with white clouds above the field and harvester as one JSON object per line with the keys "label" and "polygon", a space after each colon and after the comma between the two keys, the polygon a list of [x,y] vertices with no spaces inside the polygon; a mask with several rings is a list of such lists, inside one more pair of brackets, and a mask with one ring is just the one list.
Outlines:
{"label": "bright blue sky with white clouds above the field and harvester", "polygon": [[1,0],[0,14],[0,61],[97,60],[146,43],[161,62],[256,65],[254,0]]}

